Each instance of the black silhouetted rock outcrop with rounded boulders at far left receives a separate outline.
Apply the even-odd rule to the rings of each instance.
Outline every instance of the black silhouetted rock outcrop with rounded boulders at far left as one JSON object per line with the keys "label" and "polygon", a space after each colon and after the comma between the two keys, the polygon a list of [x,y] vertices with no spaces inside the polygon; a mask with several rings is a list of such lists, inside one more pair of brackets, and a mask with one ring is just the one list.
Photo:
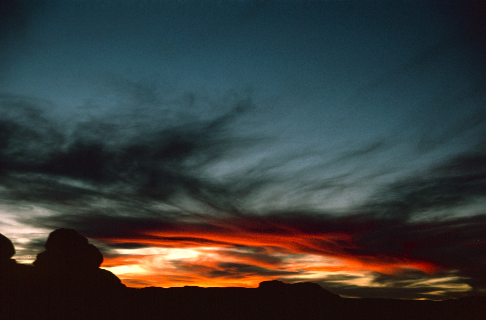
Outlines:
{"label": "black silhouetted rock outcrop with rounded boulders at far left", "polygon": [[17,264],[0,236],[0,319],[112,319],[120,279],[100,269],[102,253],[72,229],[53,231],[34,266]]}

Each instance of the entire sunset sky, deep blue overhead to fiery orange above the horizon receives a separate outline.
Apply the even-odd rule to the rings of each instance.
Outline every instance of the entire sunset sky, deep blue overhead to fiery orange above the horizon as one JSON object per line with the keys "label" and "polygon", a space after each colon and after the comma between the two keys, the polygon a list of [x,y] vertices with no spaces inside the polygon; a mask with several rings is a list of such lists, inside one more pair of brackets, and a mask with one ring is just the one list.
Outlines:
{"label": "entire sunset sky, deep blue overhead to fiery orange above the horizon", "polygon": [[0,233],[127,286],[485,295],[484,1],[2,1]]}

